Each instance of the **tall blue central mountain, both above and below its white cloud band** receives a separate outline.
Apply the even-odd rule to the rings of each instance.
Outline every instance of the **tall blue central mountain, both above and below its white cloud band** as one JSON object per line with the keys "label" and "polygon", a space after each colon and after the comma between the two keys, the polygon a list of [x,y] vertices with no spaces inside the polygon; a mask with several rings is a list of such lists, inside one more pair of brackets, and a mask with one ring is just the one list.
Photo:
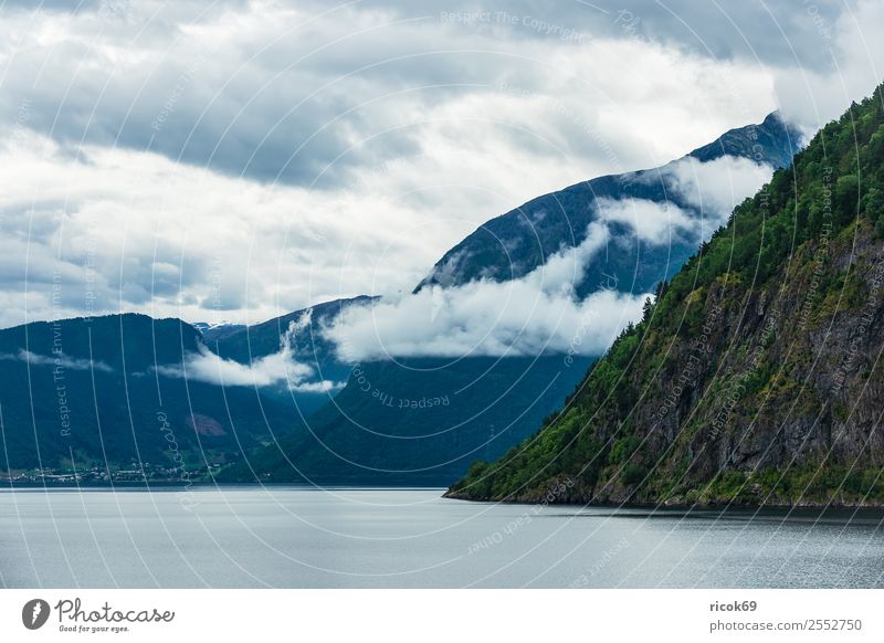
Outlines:
{"label": "tall blue central mountain, both above and below its white cloud band", "polygon": [[[604,224],[608,240],[587,262],[578,296],[601,288],[651,292],[712,232],[701,198],[713,200],[717,188],[707,188],[702,180],[676,183],[682,169],[692,176],[699,170],[702,177],[709,167],[706,164],[725,164],[715,167],[725,172],[748,168],[769,176],[774,166],[791,158],[797,137],[774,114],[760,125],[732,130],[662,168],[602,177],[539,197],[483,225],[446,253],[415,289],[456,287],[476,278],[518,278],[564,247],[583,243],[590,223],[596,222]],[[747,155],[769,168],[754,166],[745,159]],[[606,200],[659,207],[654,214],[666,221],[651,223],[664,232],[674,213],[684,213],[686,228],[649,236],[629,219],[600,217],[599,204]],[[501,250],[504,245],[509,254]],[[280,330],[280,325],[271,327],[267,345]],[[327,349],[323,347],[323,355]],[[242,350],[224,352],[220,344],[218,350],[243,357]],[[224,475],[243,481],[254,479],[259,472],[274,481],[450,484],[466,472],[470,461],[494,458],[535,431],[543,418],[561,407],[592,360],[591,356],[566,360],[561,355],[540,355],[350,365],[346,387],[311,415],[306,426],[280,444],[259,450]]]}

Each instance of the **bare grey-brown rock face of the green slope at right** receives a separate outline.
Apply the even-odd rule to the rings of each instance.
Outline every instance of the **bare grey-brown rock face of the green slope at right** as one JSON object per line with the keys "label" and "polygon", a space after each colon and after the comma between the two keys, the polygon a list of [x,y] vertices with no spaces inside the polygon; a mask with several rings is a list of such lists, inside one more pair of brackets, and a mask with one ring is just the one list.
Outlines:
{"label": "bare grey-brown rock face of the green slope at right", "polygon": [[878,500],[863,496],[884,458],[884,243],[859,221],[792,266],[759,288],[726,275],[690,294],[702,326],[655,344],[669,355],[631,410],[640,447],[609,456],[594,499]]}

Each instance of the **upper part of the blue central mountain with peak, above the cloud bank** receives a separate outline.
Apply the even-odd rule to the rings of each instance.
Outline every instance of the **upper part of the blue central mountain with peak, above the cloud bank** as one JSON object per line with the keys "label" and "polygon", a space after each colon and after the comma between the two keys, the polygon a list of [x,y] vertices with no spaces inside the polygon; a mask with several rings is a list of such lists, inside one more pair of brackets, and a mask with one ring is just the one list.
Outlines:
{"label": "upper part of the blue central mountain with peak, above the cloud bank", "polygon": [[[719,189],[703,185],[702,175],[695,172],[697,164],[750,159],[781,168],[791,161],[800,139],[799,131],[774,113],[758,125],[732,129],[663,167],[604,176],[537,197],[482,224],[446,252],[417,289],[524,277],[562,247],[580,245],[590,223],[604,218],[600,204],[609,201],[650,201],[675,207],[695,220],[697,230],[704,219],[714,219],[716,214],[703,205],[704,191],[706,200],[712,201],[712,190]],[[680,189],[684,187],[687,189]],[[716,226],[714,222],[711,228],[706,224],[708,233]],[[578,284],[578,294],[586,296],[611,280],[620,284],[620,289],[651,291],[657,282],[671,277],[696,250],[703,234],[698,238],[692,233],[695,230],[680,236],[664,229],[661,238],[648,239],[622,220],[609,221],[612,252],[599,253],[590,260],[585,268],[586,278]]]}

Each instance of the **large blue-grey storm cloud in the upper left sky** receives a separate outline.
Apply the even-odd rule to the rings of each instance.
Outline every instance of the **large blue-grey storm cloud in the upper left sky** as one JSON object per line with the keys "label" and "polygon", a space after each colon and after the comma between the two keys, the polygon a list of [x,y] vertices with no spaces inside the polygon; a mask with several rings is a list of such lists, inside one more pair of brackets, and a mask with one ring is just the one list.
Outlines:
{"label": "large blue-grey storm cloud in the upper left sky", "polygon": [[[25,125],[67,148],[122,146],[230,176],[325,187],[355,165],[418,151],[389,116],[399,92],[420,99],[427,86],[432,101],[496,66],[424,51],[419,34],[385,29],[391,19],[364,25],[351,12],[349,24],[265,22],[215,41],[212,29],[238,27],[224,22],[229,11],[87,15],[52,46],[10,48],[2,114],[27,105]],[[194,35],[189,20],[209,32]]]}

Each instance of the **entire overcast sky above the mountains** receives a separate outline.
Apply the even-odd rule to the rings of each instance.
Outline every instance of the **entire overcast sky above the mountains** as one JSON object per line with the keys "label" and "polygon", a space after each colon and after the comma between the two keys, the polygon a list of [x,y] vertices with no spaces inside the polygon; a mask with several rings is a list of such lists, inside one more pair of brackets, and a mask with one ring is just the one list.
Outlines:
{"label": "entire overcast sky above the mountains", "polygon": [[0,4],[0,326],[407,292],[532,197],[812,131],[884,70],[878,1],[34,4]]}

